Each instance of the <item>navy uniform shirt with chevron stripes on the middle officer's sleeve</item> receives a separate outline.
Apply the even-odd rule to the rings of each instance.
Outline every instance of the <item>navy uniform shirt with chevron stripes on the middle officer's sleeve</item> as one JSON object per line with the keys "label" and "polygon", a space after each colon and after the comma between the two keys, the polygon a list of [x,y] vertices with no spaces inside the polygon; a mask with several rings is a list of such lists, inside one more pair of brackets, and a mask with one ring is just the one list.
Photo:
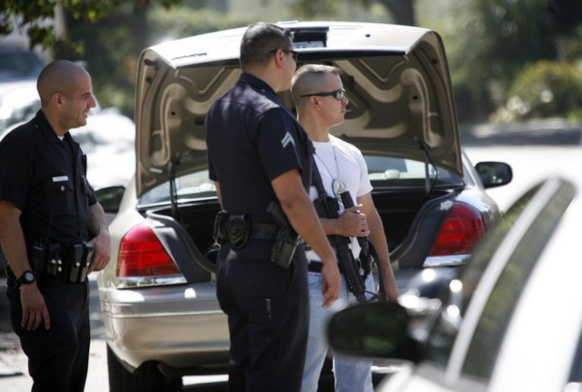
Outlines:
{"label": "navy uniform shirt with chevron stripes on the middle officer's sleeve", "polygon": [[313,145],[293,114],[261,79],[243,73],[215,101],[205,121],[208,169],[218,181],[222,207],[249,214],[251,221],[273,222],[267,213],[276,201],[271,181],[297,169],[307,190]]}

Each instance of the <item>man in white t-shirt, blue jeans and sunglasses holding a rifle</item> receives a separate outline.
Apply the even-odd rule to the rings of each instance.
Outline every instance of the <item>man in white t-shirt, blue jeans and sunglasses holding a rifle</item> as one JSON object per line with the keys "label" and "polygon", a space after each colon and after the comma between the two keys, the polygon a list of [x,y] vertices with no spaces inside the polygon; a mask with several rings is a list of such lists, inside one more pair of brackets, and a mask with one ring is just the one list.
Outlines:
{"label": "man in white t-shirt, blue jeans and sunglasses holding a rifle", "polygon": [[[329,134],[332,126],[343,122],[347,98],[340,79],[340,69],[327,65],[304,65],[293,76],[291,92],[297,107],[297,120],[306,130],[315,147],[314,160],[328,196],[336,197],[333,188],[342,183],[349,190],[356,206],[343,209],[340,203],[340,217],[320,218],[325,234],[342,235],[352,239],[354,259],[360,254],[358,236],[369,236],[378,253],[381,264],[384,289],[389,301],[396,301],[396,282],[390,264],[388,245],[384,227],[372,202],[372,185],[368,169],[360,150]],[[311,200],[318,197],[312,185]],[[309,264],[310,317],[307,355],[303,370],[302,392],[317,391],[321,368],[328,351],[325,340],[325,323],[333,312],[356,301],[342,275],[342,288],[338,301],[328,309],[321,306],[323,280],[318,266],[321,259],[313,250],[307,253]],[[365,287],[369,298],[375,290],[372,274],[365,277]],[[346,358],[333,354],[335,390],[372,391],[372,361],[368,359]]]}

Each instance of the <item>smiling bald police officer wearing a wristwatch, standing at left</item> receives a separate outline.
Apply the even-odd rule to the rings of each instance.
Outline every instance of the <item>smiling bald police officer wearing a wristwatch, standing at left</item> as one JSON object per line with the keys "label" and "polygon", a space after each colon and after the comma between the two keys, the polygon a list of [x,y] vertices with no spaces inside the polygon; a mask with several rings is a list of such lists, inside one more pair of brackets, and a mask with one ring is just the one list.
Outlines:
{"label": "smiling bald police officer wearing a wristwatch, standing at left", "polygon": [[0,239],[10,320],[33,391],[83,391],[89,356],[87,274],[109,261],[105,213],[69,129],[95,107],[91,78],[57,60],[38,77],[41,110],[0,142]]}

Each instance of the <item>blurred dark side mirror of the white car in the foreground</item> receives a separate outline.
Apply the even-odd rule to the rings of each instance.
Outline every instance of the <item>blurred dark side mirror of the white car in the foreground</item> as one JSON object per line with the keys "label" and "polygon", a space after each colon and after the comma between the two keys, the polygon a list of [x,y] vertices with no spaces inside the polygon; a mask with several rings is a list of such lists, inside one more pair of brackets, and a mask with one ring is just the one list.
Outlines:
{"label": "blurred dark side mirror of the white car in the foreground", "polygon": [[409,335],[410,317],[394,302],[364,303],[331,317],[329,346],[342,354],[418,362],[418,342]]}

